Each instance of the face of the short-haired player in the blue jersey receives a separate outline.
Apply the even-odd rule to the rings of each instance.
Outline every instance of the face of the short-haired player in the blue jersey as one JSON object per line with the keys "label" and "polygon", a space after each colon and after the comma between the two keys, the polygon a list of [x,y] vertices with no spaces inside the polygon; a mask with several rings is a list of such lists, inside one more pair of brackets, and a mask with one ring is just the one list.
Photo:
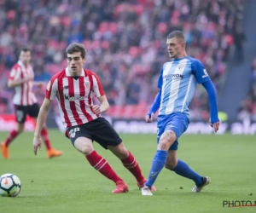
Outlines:
{"label": "face of the short-haired player in the blue jersey", "polygon": [[166,44],[170,58],[178,59],[183,57],[185,43],[182,39],[177,37],[167,38]]}

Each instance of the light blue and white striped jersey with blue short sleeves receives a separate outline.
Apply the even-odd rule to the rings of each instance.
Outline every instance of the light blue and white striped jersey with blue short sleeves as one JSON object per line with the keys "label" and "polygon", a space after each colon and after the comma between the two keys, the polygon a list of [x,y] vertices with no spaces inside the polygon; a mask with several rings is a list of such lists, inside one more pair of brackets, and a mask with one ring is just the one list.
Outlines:
{"label": "light blue and white striped jersey with blue short sleeves", "polygon": [[210,80],[200,60],[189,56],[166,62],[161,69],[159,115],[183,112],[189,118],[189,104],[197,83]]}

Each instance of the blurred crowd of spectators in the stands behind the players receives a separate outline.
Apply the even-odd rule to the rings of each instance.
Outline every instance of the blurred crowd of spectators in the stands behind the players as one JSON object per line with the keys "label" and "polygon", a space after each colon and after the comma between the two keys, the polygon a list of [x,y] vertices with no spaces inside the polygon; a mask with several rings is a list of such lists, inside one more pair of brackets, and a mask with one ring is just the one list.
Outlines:
{"label": "blurred crowd of spectators in the stands behind the players", "polygon": [[[203,62],[219,89],[245,2],[2,0],[0,112],[14,110],[6,79],[22,47],[32,49],[36,80],[47,82],[67,66],[68,43],[79,42],[87,49],[84,67],[102,79],[112,106],[109,113],[142,117],[157,93],[160,68],[170,60],[166,35],[173,30],[184,32],[188,55]],[[42,101],[44,91],[36,92]],[[201,86],[190,109],[192,118],[208,118],[207,93]]]}

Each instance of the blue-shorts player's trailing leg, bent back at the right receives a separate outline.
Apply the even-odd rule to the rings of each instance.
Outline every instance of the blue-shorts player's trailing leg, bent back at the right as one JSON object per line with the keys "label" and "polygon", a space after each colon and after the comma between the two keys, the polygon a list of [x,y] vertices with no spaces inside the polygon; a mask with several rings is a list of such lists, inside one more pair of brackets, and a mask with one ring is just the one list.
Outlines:
{"label": "blue-shorts player's trailing leg, bent back at the right", "polygon": [[202,187],[205,187],[211,182],[210,177],[201,176],[192,170],[188,164],[183,162],[181,159],[177,159],[177,142],[175,142],[170,150],[166,160],[166,169],[174,171],[177,175],[189,178],[195,181],[195,187],[192,192],[201,192]]}

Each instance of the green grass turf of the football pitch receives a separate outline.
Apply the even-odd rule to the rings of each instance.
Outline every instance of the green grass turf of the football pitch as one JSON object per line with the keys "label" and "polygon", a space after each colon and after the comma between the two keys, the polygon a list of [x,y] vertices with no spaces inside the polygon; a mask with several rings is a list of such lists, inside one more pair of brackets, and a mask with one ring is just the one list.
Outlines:
{"label": "green grass turf of the football pitch", "polygon": [[[6,134],[0,133],[0,137]],[[212,184],[202,193],[191,193],[193,181],[162,170],[152,197],[143,197],[119,159],[95,144],[97,152],[130,187],[129,193],[112,194],[113,182],[93,170],[64,135],[51,130],[50,136],[53,146],[64,152],[61,158],[46,158],[44,148],[33,156],[32,133],[20,135],[11,144],[9,160],[0,157],[0,174],[13,173],[22,182],[17,198],[0,198],[1,212],[256,212],[256,207],[223,207],[224,200],[256,200],[255,135],[183,135],[178,158],[211,176]],[[147,176],[156,148],[155,135],[122,138]]]}

